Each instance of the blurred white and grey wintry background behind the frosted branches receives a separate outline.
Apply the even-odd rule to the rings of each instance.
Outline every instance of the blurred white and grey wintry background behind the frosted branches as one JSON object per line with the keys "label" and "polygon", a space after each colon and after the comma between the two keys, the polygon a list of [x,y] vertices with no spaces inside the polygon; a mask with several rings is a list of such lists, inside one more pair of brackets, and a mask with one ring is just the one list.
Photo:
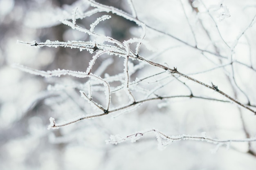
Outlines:
{"label": "blurred white and grey wintry background behind the frosted branches", "polygon": [[[97,0],[97,2],[131,13],[126,0]],[[256,14],[256,2],[254,0],[203,2],[208,9],[212,9],[217,27],[209,19],[207,10],[200,2],[134,0],[139,20],[176,37],[176,39],[171,38],[159,31],[147,29],[145,39],[152,48],[148,50],[142,46],[140,54],[145,57],[156,55],[157,57],[153,57],[154,61],[166,64],[170,68],[175,66],[186,74],[216,67],[213,61],[219,65],[227,64],[228,61],[222,62],[222,58],[204,53],[177,39],[188,44],[196,43],[199,49],[213,51],[219,55],[232,55],[234,60],[243,62],[251,68],[234,64],[232,68],[221,67],[213,72],[193,77],[207,84],[216,83],[223,91],[243,103],[247,103],[249,98],[250,104],[255,106],[256,27],[253,19]],[[222,15],[223,10],[226,9],[225,5],[231,15],[228,16],[229,13],[226,13],[227,18]],[[209,137],[219,139],[255,137],[254,114],[231,103],[209,102],[202,99],[153,101],[115,119],[112,115],[106,115],[60,129],[47,130],[49,117],[55,117],[56,121],[62,122],[92,113],[91,108],[88,108],[90,105],[86,105],[87,102],[80,97],[78,88],[74,88],[76,84],[84,84],[88,79],[71,76],[48,79],[24,73],[11,65],[19,63],[44,71],[58,68],[86,71],[92,57],[87,51],[62,47],[35,48],[17,43],[17,40],[24,42],[93,40],[85,33],[73,30],[59,21],[63,18],[70,19],[76,7],[81,11],[92,9],[83,0],[0,0],[1,170],[255,169],[255,143],[231,144],[229,149],[220,146],[218,151],[213,153],[216,145],[202,141],[177,141],[164,150],[159,150],[154,134],[142,137],[136,143],[128,141],[112,145],[105,142],[110,135],[125,136],[149,128],[157,128],[167,135],[200,135],[206,132]],[[90,24],[102,15],[106,13],[96,13],[83,20],[77,20],[77,24],[89,29]],[[140,37],[141,28],[135,22],[112,13],[109,15],[112,18],[100,23],[95,28],[95,32],[120,42]],[[228,50],[216,28],[221,31],[223,39],[230,46],[236,42],[238,35],[242,34],[242,38],[234,49]],[[106,73],[111,76],[123,72],[124,59],[116,56],[103,55],[94,67],[99,68],[105,61],[110,64],[104,72],[98,70],[97,73],[101,77]],[[132,63],[139,64],[137,61]],[[157,71],[159,70],[156,68],[145,66],[132,74],[131,80]],[[236,79],[238,86],[234,85],[234,82],[232,85],[232,79],[230,80],[225,72],[232,72],[235,75],[236,78],[233,78]],[[155,84],[161,84],[161,79],[165,78],[153,78],[141,86],[152,88]],[[184,79],[182,81],[191,87],[194,95],[207,94],[209,97],[225,99],[208,89],[202,89],[197,84]],[[151,82],[155,84],[150,84]],[[49,90],[50,87],[54,89],[55,84],[61,86],[62,90]],[[120,84],[115,82],[112,85]],[[246,95],[238,87],[242,88]],[[187,88],[179,85],[179,82],[166,86],[159,91],[159,94],[167,92],[171,95],[190,95],[185,93],[188,92]],[[104,101],[105,98],[102,98],[101,93],[94,94],[99,103]],[[128,97],[124,97],[122,93],[112,96],[113,106],[119,106],[127,100]]]}

